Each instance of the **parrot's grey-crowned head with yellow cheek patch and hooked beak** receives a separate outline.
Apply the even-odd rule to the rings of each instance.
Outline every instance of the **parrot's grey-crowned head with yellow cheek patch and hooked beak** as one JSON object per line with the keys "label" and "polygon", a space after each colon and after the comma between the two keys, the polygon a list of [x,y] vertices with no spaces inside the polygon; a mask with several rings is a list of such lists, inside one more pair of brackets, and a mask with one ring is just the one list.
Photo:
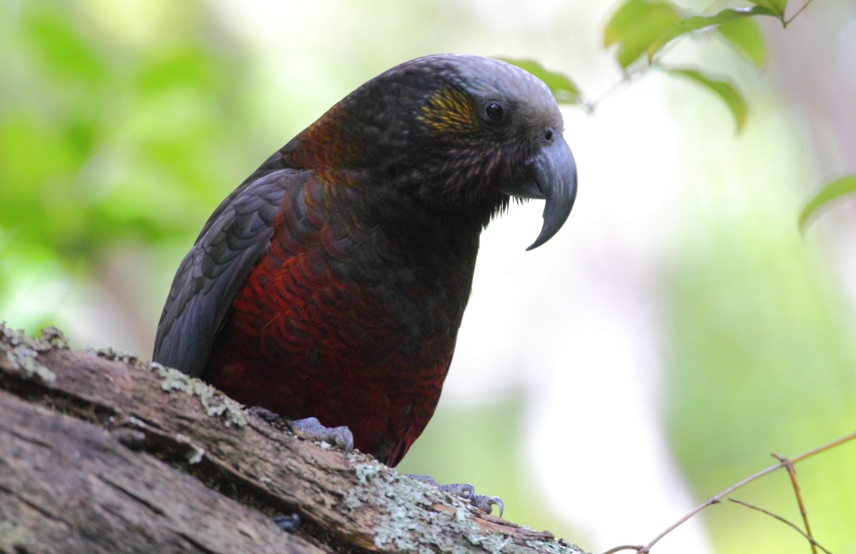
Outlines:
{"label": "parrot's grey-crowned head with yellow cheek patch and hooked beak", "polygon": [[386,188],[376,194],[400,208],[484,226],[511,198],[545,200],[532,249],[561,229],[574,206],[576,164],[556,100],[511,64],[420,57],[366,82],[325,120],[337,122],[336,131],[321,127],[316,137],[336,149],[336,163],[372,171],[371,181]]}

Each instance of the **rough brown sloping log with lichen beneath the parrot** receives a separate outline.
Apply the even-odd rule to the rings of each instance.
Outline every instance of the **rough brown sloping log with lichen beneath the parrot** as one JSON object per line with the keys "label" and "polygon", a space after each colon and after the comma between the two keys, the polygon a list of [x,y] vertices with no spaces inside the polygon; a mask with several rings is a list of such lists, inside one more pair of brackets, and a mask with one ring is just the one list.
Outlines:
{"label": "rough brown sloping log with lichen beneath the parrot", "polygon": [[0,324],[0,552],[152,551],[580,552],[175,370]]}

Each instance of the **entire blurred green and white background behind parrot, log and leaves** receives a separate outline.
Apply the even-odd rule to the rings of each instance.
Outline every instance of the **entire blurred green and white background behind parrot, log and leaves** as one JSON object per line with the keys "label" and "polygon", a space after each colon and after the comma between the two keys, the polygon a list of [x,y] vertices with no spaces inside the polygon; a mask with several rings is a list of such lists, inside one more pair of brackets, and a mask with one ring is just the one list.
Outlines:
{"label": "entire blurred green and white background behind parrot, log and leaves", "polygon": [[[796,222],[856,171],[856,3],[817,0],[787,30],[759,21],[760,71],[713,35],[669,49],[740,86],[740,134],[687,82],[614,87],[616,6],[0,0],[0,319],[148,358],[205,219],[331,104],[429,53],[536,59],[600,98],[565,110],[577,206],[530,253],[537,202],[484,233],[443,399],[401,469],[471,481],[508,519],[590,551],[647,542],[771,451],[853,430],[854,206],[805,235]],[[856,444],[798,466],[837,554],[856,552],[854,468]],[[734,497],[799,521],[784,473]],[[806,549],[722,505],[655,551]]]}

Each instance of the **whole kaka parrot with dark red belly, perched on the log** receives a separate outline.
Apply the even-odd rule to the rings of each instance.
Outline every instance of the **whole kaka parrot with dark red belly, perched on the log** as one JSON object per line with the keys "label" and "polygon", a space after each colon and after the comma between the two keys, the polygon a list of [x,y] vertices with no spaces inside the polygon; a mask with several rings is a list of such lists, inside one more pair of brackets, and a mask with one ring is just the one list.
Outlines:
{"label": "whole kaka parrot with dark red belly, perched on the log", "polygon": [[576,166],[532,74],[421,57],[334,105],[223,200],[181,261],[155,361],[394,466],[455,351],[479,235],[510,197],[568,218]]}

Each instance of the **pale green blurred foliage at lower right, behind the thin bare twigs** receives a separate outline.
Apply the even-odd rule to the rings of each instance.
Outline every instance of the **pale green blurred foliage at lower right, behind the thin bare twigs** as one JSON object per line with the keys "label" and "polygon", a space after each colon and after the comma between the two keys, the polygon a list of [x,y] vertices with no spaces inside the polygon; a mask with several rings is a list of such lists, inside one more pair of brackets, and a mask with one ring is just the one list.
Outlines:
{"label": "pale green blurred foliage at lower right, behind the thin bare twigs", "polygon": [[[856,355],[844,299],[817,273],[800,235],[788,232],[789,214],[696,215],[704,224],[680,241],[667,273],[672,352],[664,420],[700,499],[776,463],[766,453],[794,456],[852,431]],[[823,526],[816,537],[827,546],[854,539],[856,503],[841,491],[856,490],[856,452],[841,450],[797,466],[815,532]],[[732,496],[800,522],[783,473]],[[708,514],[722,552],[800,551],[801,539],[784,527],[753,536],[763,516],[741,515],[745,509],[733,505],[710,509],[719,510],[733,512]]]}

